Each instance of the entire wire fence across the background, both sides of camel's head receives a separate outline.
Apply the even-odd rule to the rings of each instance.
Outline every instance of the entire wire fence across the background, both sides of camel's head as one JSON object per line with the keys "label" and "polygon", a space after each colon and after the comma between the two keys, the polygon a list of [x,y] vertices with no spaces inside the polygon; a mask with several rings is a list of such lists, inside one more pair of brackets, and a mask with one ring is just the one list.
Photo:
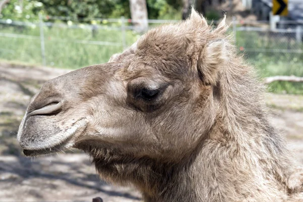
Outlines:
{"label": "entire wire fence across the background, both sides of camel's head", "polygon": [[[178,21],[148,20],[149,28],[175,22]],[[138,39],[140,34],[133,31],[132,23],[123,17],[89,21],[58,16],[40,16],[38,22],[0,20],[0,59],[61,68],[105,63]],[[228,23],[239,52],[264,70],[265,76],[303,76],[303,22],[280,21],[273,26],[268,21],[233,19]],[[270,68],[276,70],[268,71]]]}

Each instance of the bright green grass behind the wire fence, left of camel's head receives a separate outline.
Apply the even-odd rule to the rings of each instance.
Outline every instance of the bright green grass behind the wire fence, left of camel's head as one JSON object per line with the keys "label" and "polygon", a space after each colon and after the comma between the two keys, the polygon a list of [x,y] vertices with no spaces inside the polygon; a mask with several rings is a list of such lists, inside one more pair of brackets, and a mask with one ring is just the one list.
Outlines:
{"label": "bright green grass behind the wire fence, left of camel's head", "polygon": [[[110,57],[123,51],[120,30],[91,30],[44,27],[46,65],[77,69],[88,65],[107,62]],[[42,64],[39,27],[0,27],[0,32],[26,34],[34,39],[0,37],[0,59]],[[132,31],[126,31],[126,45],[138,38]],[[118,46],[75,43],[74,40],[107,41]]]}

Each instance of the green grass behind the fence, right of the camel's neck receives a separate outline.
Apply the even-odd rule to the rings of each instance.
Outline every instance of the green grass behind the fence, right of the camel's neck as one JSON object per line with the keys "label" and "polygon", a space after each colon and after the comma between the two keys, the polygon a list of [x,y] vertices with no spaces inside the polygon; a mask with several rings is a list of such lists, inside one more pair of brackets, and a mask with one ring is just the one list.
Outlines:
{"label": "green grass behind the fence, right of the camel's neck", "polygon": [[[243,47],[246,59],[254,65],[261,77],[277,75],[295,75],[303,77],[303,54],[299,53],[260,53],[254,49],[303,49],[303,44],[294,40],[294,36],[258,32],[237,32],[237,46]],[[246,51],[247,50],[247,51]],[[303,83],[275,81],[268,85],[270,92],[303,94]]]}

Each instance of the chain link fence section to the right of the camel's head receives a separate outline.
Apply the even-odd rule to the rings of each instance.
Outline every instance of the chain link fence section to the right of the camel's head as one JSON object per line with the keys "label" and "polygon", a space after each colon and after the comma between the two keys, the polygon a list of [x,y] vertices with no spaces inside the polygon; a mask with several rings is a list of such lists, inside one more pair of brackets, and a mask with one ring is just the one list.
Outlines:
{"label": "chain link fence section to the right of the camel's head", "polygon": [[[246,53],[302,54],[303,26],[293,21],[280,22],[285,28],[271,28],[269,22],[239,21],[236,43]],[[271,55],[271,54],[270,54]]]}

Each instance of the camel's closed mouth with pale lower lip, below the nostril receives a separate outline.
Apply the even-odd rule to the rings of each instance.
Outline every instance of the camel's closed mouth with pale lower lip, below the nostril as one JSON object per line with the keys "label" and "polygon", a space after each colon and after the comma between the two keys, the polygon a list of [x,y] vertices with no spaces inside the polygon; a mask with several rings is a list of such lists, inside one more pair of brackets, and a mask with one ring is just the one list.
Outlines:
{"label": "camel's closed mouth with pale lower lip, below the nostril", "polygon": [[[79,135],[82,134],[82,132],[85,130],[87,126],[87,122],[85,119],[80,119],[76,122],[77,124],[73,125],[69,129],[67,129],[65,132],[61,133],[60,136],[63,136],[62,140],[57,143],[47,143],[47,142],[54,142],[53,139],[45,139],[44,145],[39,146],[32,146],[28,148],[23,149],[23,154],[27,157],[35,157],[40,155],[47,155],[56,153],[58,151],[64,151],[68,148],[71,148],[75,140]],[[81,131],[79,130],[81,129]],[[77,133],[77,135],[75,135]]]}

